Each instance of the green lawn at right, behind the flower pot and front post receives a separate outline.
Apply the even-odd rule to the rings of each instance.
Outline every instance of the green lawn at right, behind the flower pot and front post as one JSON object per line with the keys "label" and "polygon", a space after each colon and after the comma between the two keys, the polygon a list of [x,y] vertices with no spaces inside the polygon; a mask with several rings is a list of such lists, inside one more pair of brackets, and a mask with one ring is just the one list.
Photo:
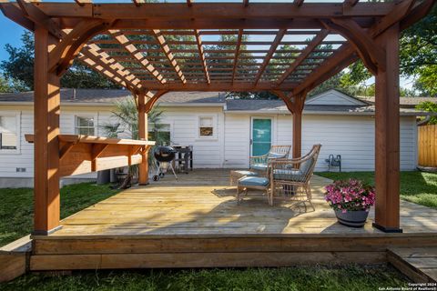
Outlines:
{"label": "green lawn at right, behind the flower pot and front post", "polygon": [[[316,175],[332,180],[344,180],[353,177],[371,185],[375,184],[374,172],[319,172]],[[401,172],[401,198],[437,209],[437,173]]]}

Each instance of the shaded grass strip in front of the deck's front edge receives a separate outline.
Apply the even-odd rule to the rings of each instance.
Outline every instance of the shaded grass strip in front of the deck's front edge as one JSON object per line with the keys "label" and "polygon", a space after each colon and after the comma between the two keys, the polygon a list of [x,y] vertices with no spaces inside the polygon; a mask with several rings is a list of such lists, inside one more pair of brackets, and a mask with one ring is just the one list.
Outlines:
{"label": "shaded grass strip in front of the deck's front edge", "polygon": [[391,267],[288,268],[79,272],[74,276],[25,275],[2,290],[378,290],[407,286]]}

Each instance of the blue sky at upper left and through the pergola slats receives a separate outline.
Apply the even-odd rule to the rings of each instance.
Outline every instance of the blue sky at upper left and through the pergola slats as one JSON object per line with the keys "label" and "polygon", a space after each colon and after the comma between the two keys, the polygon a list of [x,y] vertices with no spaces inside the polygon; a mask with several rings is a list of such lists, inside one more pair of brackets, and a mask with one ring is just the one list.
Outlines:
{"label": "blue sky at upper left and through the pergola slats", "polygon": [[[305,2],[342,2],[343,0],[305,0]],[[56,2],[70,2],[72,3],[73,0],[56,0]],[[132,3],[131,0],[94,0],[93,3]],[[160,0],[159,2],[163,2]],[[167,0],[167,2],[174,2],[174,3],[186,3],[186,0]],[[197,0],[196,2],[218,2],[217,0]],[[220,2],[232,2],[232,3],[241,3],[241,0],[220,0]],[[250,0],[251,3],[256,2],[292,2],[292,0],[274,0],[274,1],[266,1],[266,0]],[[21,35],[25,32],[25,28],[21,27],[20,25],[16,25],[15,22],[9,20],[5,17],[5,15],[0,13],[0,62],[4,61],[8,58],[8,54],[5,51],[5,45],[10,44],[13,46],[20,46],[21,45]],[[208,37],[208,36],[206,36]],[[212,41],[214,40],[214,35],[209,36],[209,38],[204,37],[204,41]],[[260,36],[261,38],[257,38],[256,40],[270,40],[269,38],[274,37],[272,35],[264,35]],[[337,36],[332,38],[331,40],[340,39],[341,36]],[[217,39],[217,38],[216,38]],[[253,40],[253,39],[252,39]],[[296,39],[298,40],[298,39]],[[300,40],[300,39],[299,39]],[[287,41],[287,39],[284,39],[284,41]],[[248,46],[250,49],[250,47]],[[261,47],[252,47],[252,49],[264,49]],[[259,55],[261,56],[261,55]],[[374,83],[374,79],[371,78],[367,82],[369,85]],[[404,88],[412,88],[412,79],[411,78],[401,78],[401,87]]]}

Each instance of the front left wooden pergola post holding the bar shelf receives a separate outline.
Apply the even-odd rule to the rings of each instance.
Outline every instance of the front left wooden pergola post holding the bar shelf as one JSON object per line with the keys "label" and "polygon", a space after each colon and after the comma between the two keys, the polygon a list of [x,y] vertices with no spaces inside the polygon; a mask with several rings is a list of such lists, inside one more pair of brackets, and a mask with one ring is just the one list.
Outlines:
{"label": "front left wooden pergola post holding the bar shelf", "polygon": [[34,234],[48,235],[59,226],[59,76],[50,73],[49,52],[56,37],[35,29],[35,221]]}

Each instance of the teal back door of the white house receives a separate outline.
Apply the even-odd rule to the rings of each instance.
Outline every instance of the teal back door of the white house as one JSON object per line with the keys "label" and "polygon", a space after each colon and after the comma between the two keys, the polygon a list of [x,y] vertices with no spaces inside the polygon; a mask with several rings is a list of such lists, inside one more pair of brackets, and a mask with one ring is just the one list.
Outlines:
{"label": "teal back door of the white house", "polygon": [[252,156],[262,156],[271,146],[271,119],[252,118]]}

